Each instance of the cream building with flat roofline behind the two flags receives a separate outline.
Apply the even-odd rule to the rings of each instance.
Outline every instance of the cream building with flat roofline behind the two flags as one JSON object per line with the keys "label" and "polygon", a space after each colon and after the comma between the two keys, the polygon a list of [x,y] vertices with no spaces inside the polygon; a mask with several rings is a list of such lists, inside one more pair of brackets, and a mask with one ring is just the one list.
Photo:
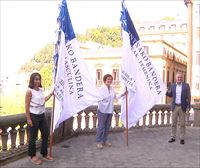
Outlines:
{"label": "cream building with flat roofline behind the two flags", "polygon": [[[164,40],[146,40],[143,41],[143,45],[166,85],[169,86],[174,82],[175,73],[177,71],[182,72],[184,74],[184,80],[186,80],[186,54],[174,48]],[[89,72],[96,81],[97,87],[103,84],[103,76],[110,73],[114,78],[114,88],[117,92],[120,92],[122,89],[122,83],[120,82],[122,48],[110,48],[107,46],[89,48],[86,44],[85,46],[81,46],[81,50]],[[160,103],[167,102],[168,99],[163,98]]]}

